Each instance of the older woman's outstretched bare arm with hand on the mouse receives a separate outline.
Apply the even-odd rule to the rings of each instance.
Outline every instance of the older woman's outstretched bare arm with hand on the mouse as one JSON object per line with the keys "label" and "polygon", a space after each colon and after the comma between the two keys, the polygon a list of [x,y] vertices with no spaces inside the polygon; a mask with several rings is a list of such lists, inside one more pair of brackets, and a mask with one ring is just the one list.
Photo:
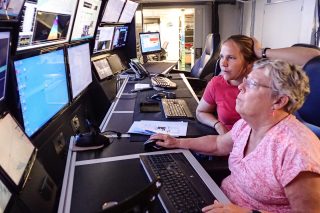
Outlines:
{"label": "older woman's outstretched bare arm with hand on the mouse", "polygon": [[199,138],[174,138],[165,134],[155,134],[150,138],[162,140],[156,142],[159,146],[190,149],[206,155],[228,155],[233,147],[230,132],[224,135],[207,135]]}

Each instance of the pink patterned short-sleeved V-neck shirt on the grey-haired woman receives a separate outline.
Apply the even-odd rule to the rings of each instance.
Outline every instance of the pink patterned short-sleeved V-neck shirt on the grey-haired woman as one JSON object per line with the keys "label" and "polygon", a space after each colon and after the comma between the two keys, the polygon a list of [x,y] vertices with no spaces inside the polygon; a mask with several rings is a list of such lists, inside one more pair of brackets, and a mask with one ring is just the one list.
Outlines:
{"label": "pink patterned short-sleeved V-neck shirt on the grey-haired woman", "polygon": [[251,128],[241,119],[231,131],[231,175],[222,182],[230,201],[250,209],[291,212],[284,187],[302,171],[320,174],[319,139],[290,115],[244,157]]}

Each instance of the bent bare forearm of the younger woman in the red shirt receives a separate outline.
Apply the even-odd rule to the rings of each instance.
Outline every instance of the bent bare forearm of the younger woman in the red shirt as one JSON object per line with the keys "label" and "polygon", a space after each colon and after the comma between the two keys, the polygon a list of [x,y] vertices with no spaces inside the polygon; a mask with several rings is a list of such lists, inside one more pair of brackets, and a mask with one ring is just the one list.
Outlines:
{"label": "bent bare forearm of the younger woman in the red shirt", "polygon": [[[228,129],[219,122],[218,118],[216,118],[213,114],[216,111],[216,107],[208,104],[203,98],[200,100],[197,110],[196,116],[198,121],[201,123],[211,126],[215,128],[215,130],[220,134],[223,135],[228,132]],[[218,122],[218,123],[217,123]]]}

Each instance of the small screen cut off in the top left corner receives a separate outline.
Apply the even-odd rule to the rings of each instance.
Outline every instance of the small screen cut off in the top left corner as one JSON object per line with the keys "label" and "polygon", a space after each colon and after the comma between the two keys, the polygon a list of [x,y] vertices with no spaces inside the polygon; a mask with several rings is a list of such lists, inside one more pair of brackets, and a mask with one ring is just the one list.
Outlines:
{"label": "small screen cut off in the top left corner", "polygon": [[16,19],[25,0],[0,0],[0,20]]}

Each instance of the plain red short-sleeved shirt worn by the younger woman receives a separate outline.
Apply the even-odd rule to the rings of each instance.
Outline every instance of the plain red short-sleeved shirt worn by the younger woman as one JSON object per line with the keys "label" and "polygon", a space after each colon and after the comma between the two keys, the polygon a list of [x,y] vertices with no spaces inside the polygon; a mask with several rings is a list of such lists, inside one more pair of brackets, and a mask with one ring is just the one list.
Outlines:
{"label": "plain red short-sleeved shirt worn by the younger woman", "polygon": [[217,107],[219,121],[229,130],[240,119],[235,108],[238,94],[238,87],[229,84],[221,75],[211,79],[203,94],[208,104]]}

